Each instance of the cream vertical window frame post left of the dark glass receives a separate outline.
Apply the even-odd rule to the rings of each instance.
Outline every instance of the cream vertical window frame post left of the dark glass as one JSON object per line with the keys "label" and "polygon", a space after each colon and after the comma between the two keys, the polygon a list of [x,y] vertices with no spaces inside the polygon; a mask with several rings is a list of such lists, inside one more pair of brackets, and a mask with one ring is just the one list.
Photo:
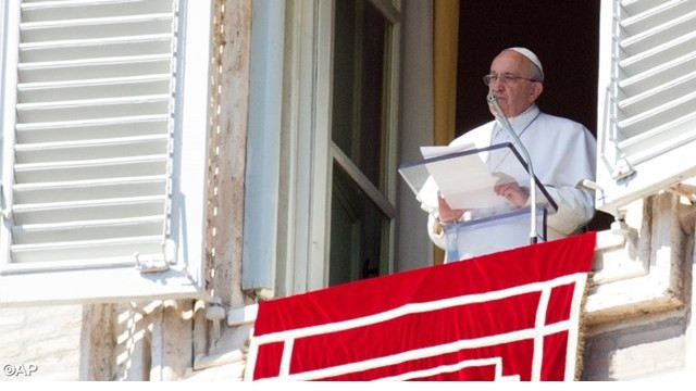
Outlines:
{"label": "cream vertical window frame post left of the dark glass", "polygon": [[[331,60],[333,1],[296,0],[286,5],[286,81],[283,103],[290,168],[285,256],[278,294],[326,286],[331,226]],[[295,148],[293,148],[295,147]],[[283,235],[283,234],[282,234]]]}

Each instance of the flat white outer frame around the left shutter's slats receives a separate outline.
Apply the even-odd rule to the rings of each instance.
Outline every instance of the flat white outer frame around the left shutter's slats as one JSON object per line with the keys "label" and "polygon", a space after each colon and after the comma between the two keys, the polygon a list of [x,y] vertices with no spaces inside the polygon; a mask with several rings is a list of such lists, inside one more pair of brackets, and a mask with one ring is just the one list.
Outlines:
{"label": "flat white outer frame around the left shutter's slats", "polygon": [[[18,15],[18,0],[3,1],[2,7],[2,12],[8,15]],[[171,220],[171,238],[177,243],[176,262],[166,270],[157,273],[141,273],[135,265],[91,268],[63,265],[17,273],[0,269],[0,306],[206,297],[203,266],[212,1],[198,0],[191,4],[191,1],[183,0],[179,13],[183,16],[179,33],[184,38],[178,41],[176,121],[181,137],[175,137],[174,142],[179,148],[174,150],[181,155],[176,152],[174,155]],[[16,47],[16,24],[11,22],[0,31],[0,39],[8,43],[5,49]],[[12,73],[4,72],[5,67],[16,68],[16,54],[13,50],[5,51],[10,54],[2,56],[3,86],[16,85],[16,79],[5,76]],[[2,101],[5,129],[14,128],[14,101],[12,96],[5,96]],[[5,133],[3,140],[7,141],[11,135],[13,131]],[[12,156],[8,152],[11,151],[3,147],[3,178],[11,175]],[[5,200],[9,200],[9,186],[4,186]],[[7,257],[9,234],[7,229],[0,229],[0,251]]]}

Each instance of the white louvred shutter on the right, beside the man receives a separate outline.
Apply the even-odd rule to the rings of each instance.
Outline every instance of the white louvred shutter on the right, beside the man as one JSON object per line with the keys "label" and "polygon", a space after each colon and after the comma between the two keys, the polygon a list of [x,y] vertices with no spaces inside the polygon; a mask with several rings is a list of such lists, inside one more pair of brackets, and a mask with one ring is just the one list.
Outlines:
{"label": "white louvred shutter on the right, beside the man", "polygon": [[597,207],[696,175],[696,1],[602,1]]}

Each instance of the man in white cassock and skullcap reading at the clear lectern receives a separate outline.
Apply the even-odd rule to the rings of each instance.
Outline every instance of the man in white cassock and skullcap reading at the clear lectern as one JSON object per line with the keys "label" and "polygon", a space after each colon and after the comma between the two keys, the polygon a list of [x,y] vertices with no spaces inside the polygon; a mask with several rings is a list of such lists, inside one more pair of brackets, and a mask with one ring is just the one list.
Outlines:
{"label": "man in white cassock and skullcap reading at the clear lectern", "polygon": [[[509,48],[501,51],[493,60],[484,83],[488,86],[488,93],[497,97],[513,131],[526,148],[535,176],[558,206],[558,211],[547,218],[547,240],[577,232],[595,213],[594,194],[580,185],[584,179],[594,180],[595,177],[594,136],[576,122],[539,111],[535,102],[544,90],[544,68],[536,54],[529,49]],[[489,109],[496,116],[494,108]],[[473,144],[481,149],[499,143],[514,144],[514,141],[496,118],[460,136],[450,146]],[[520,167],[519,160],[512,153],[492,152],[482,159],[487,161],[492,172],[518,177],[511,173]],[[529,181],[526,185],[524,180],[501,181],[493,191],[504,197],[511,210],[529,205]],[[467,234],[469,237],[465,241],[459,240],[452,247],[452,235],[446,235],[446,227],[471,218],[472,213],[475,217],[477,211],[453,210],[442,197],[437,197],[437,205],[422,203],[422,207],[430,214],[428,235],[436,245],[446,250],[446,262],[499,251],[501,241],[512,235],[520,236],[519,227],[497,224],[490,228],[482,227],[480,231],[472,229]],[[530,219],[523,222],[529,232]],[[530,237],[522,235],[520,239],[529,243]],[[467,248],[472,242],[475,243],[475,251]]]}

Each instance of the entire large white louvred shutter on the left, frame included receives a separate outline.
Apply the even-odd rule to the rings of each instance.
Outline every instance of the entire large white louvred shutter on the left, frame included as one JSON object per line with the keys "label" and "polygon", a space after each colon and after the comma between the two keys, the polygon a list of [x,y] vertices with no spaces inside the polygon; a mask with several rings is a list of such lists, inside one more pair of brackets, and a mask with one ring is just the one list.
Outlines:
{"label": "entire large white louvred shutter on the left, frame included", "polygon": [[2,7],[0,303],[198,294],[210,1]]}

